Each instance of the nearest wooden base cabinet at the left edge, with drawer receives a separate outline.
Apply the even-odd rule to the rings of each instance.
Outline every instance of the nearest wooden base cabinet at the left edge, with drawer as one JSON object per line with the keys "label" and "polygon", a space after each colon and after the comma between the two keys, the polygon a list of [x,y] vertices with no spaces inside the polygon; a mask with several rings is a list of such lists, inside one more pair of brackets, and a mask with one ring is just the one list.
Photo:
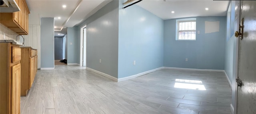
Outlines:
{"label": "nearest wooden base cabinet at the left edge, with drawer", "polygon": [[21,49],[0,43],[0,114],[20,114]]}

